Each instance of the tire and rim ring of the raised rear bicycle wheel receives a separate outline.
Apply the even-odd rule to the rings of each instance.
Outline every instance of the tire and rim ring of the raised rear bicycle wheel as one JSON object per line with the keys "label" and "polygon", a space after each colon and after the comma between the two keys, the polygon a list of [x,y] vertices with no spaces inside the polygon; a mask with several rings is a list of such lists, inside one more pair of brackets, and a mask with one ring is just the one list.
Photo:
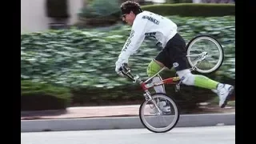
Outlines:
{"label": "tire and rim ring of the raised rear bicycle wheel", "polygon": [[[206,34],[202,34],[202,35],[198,35],[194,38],[192,38],[190,40],[190,42],[187,44],[186,46],[186,54],[187,55],[190,55],[190,49],[191,47],[194,45],[195,42],[198,42],[199,40],[210,40],[211,42],[214,42],[215,46],[218,47],[218,51],[219,51],[219,59],[218,59],[218,63],[215,64],[213,66],[212,69],[210,70],[201,70],[200,68],[198,68],[198,66],[196,66],[195,70],[198,71],[199,73],[202,73],[202,74],[212,74],[214,73],[215,71],[217,71],[221,66],[222,66],[222,63],[224,61],[224,50],[222,48],[222,45],[220,44],[220,42],[218,42],[218,40],[216,38],[214,38],[213,36],[210,36],[210,35],[206,35]],[[190,57],[187,57],[187,60],[190,64],[190,67],[193,66],[193,63],[191,62],[190,60]]]}

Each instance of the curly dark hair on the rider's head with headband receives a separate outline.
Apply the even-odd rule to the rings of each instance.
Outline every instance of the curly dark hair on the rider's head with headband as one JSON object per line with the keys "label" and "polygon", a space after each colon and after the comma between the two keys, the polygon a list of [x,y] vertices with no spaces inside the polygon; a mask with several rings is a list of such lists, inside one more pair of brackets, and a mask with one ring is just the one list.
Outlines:
{"label": "curly dark hair on the rider's head with headband", "polygon": [[122,2],[121,6],[122,14],[129,14],[130,11],[133,11],[134,14],[139,14],[142,12],[141,6],[139,6],[138,2],[134,1],[126,1]]}

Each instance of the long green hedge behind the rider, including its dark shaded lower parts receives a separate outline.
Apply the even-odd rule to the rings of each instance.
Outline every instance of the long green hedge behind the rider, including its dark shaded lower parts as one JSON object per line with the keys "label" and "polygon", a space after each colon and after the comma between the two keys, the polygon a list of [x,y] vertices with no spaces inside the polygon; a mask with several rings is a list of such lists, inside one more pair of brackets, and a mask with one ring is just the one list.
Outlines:
{"label": "long green hedge behind the rider, including its dark shaded lower parts", "polygon": [[[223,65],[216,74],[208,76],[234,84],[234,17],[169,18],[178,24],[178,31],[186,42],[198,34],[210,34],[222,43],[225,52]],[[110,32],[71,29],[22,34],[21,78],[69,87],[73,94],[72,105],[141,102],[141,89],[126,78],[118,77],[114,71],[114,62],[129,34],[130,26]],[[130,57],[133,73],[147,78],[146,67],[157,54],[155,41],[146,38],[138,53]],[[165,74],[174,76],[174,71]],[[193,107],[213,96],[209,90],[182,87],[182,93],[175,96],[182,106]],[[174,89],[170,86],[168,90]],[[168,90],[168,94],[173,94]]]}

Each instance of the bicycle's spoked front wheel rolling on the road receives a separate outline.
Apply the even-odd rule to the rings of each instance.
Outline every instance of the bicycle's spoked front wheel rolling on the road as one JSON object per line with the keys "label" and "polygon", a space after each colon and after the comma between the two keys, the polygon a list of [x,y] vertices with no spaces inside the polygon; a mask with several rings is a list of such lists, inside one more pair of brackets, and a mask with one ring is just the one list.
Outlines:
{"label": "bicycle's spoked front wheel rolling on the road", "polygon": [[148,130],[164,133],[176,126],[179,110],[176,102],[166,94],[153,94],[152,100],[145,100],[139,108],[139,118]]}

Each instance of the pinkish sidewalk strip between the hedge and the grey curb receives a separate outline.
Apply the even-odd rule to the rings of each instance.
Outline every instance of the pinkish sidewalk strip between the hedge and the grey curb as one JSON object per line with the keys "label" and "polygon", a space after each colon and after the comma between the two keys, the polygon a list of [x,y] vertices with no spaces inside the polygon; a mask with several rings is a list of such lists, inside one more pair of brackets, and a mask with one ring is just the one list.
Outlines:
{"label": "pinkish sidewalk strip between the hedge and the grey curb", "polygon": [[[66,110],[26,111],[22,112],[21,120],[62,119],[62,118],[104,118],[138,116],[139,105],[130,106],[84,106],[70,107]],[[234,114],[234,107],[221,109],[210,107],[200,114]]]}

